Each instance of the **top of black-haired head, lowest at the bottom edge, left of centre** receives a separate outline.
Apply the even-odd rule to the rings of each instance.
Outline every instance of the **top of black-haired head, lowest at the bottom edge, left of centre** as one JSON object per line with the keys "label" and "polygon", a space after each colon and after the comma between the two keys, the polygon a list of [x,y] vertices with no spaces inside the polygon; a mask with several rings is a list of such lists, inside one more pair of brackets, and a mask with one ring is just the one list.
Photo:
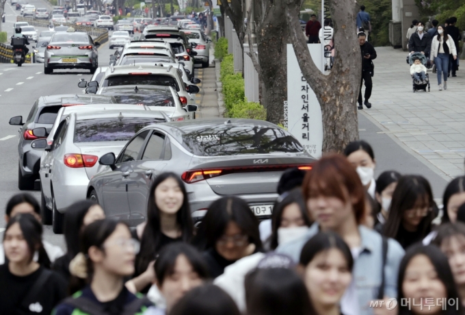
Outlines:
{"label": "top of black-haired head, lowest at the bottom edge, left of centre", "polygon": [[241,312],[228,293],[214,284],[206,284],[187,292],[169,315],[241,315]]}

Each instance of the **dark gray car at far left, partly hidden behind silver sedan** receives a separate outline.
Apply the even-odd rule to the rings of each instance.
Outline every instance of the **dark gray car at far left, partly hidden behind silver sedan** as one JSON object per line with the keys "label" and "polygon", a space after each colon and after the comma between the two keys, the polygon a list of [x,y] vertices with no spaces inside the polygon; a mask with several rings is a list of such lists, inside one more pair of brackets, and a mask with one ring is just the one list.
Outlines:
{"label": "dark gray car at far left, partly hidden behind silver sedan", "polygon": [[34,181],[38,179],[39,175],[42,151],[31,148],[31,142],[42,137],[34,135],[33,130],[44,127],[47,132],[50,132],[55,117],[63,106],[91,103],[117,103],[117,101],[114,97],[105,97],[103,95],[64,94],[39,97],[32,106],[25,123],[23,123],[23,116],[15,116],[10,119],[10,125],[22,126],[18,130],[18,188],[20,190],[34,189]]}

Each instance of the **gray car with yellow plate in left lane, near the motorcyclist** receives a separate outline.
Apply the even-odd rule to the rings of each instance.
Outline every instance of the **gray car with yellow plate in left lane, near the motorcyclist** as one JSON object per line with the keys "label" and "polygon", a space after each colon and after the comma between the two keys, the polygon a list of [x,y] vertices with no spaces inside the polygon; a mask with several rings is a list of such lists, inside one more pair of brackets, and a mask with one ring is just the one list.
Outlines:
{"label": "gray car with yellow plate in left lane, near the motorcyclist", "polygon": [[98,67],[99,42],[81,32],[57,31],[51,38],[44,58],[44,73],[49,75],[53,69],[84,68],[94,73]]}

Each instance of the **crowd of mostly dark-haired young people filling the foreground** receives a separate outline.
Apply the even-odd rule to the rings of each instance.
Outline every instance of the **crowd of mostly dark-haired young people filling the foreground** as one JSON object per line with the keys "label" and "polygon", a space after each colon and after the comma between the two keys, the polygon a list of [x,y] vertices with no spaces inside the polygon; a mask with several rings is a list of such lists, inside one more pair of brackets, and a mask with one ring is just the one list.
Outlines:
{"label": "crowd of mostly dark-haired young people filling the foreground", "polygon": [[[92,201],[69,207],[66,252],[42,240],[38,201],[16,194],[5,207],[1,313],[464,314],[465,176],[440,210],[425,177],[375,179],[376,167],[370,144],[354,141],[310,171],[285,171],[269,220],[226,196],[195,227],[185,184],[163,173],[135,228]],[[392,299],[395,310],[373,304]]]}

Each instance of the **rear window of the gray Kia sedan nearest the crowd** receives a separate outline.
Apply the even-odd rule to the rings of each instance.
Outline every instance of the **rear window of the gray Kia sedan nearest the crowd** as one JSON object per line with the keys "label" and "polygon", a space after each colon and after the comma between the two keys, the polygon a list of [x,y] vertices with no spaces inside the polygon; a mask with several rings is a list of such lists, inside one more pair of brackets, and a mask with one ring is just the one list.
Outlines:
{"label": "rear window of the gray Kia sedan nearest the crowd", "polygon": [[183,129],[186,131],[182,136],[183,147],[199,156],[304,152],[302,145],[280,128],[260,125],[196,125]]}

